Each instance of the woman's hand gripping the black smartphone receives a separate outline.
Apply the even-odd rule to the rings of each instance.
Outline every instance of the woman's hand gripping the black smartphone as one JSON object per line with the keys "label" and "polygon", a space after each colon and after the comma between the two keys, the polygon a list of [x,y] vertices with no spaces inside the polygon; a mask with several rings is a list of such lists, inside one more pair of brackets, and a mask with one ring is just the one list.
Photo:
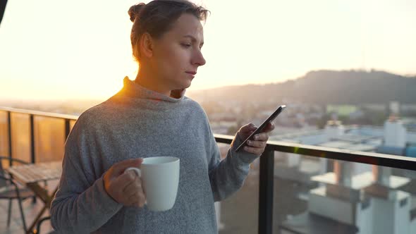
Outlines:
{"label": "woman's hand gripping the black smartphone", "polygon": [[[238,135],[240,135],[240,139],[245,140],[245,138],[250,136],[250,134],[252,134],[256,129],[257,127],[254,124],[249,123],[238,130]],[[274,130],[274,123],[268,123],[262,133],[258,133],[254,136],[254,140],[247,141],[247,145],[245,145],[244,150],[257,156],[262,155],[264,149],[266,148],[267,140],[269,140],[269,135],[267,133],[272,130]]]}

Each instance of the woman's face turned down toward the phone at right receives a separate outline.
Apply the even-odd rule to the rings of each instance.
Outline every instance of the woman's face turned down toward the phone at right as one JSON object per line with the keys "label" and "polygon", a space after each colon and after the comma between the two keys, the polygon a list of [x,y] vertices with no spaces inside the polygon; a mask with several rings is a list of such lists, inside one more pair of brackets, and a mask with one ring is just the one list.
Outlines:
{"label": "woman's face turned down toward the phone at right", "polygon": [[154,41],[152,72],[169,90],[190,87],[197,69],[205,64],[201,48],[204,34],[200,20],[183,13],[171,30]]}

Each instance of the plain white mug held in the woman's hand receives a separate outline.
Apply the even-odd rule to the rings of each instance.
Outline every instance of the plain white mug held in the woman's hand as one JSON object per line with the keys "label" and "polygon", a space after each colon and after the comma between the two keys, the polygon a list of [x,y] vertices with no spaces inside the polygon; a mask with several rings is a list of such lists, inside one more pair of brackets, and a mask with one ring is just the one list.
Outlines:
{"label": "plain white mug held in the woman's hand", "polygon": [[[176,201],[179,184],[179,159],[173,156],[155,156],[143,159],[140,168],[129,167],[142,179],[147,208],[167,211]],[[126,172],[125,171],[125,172]]]}

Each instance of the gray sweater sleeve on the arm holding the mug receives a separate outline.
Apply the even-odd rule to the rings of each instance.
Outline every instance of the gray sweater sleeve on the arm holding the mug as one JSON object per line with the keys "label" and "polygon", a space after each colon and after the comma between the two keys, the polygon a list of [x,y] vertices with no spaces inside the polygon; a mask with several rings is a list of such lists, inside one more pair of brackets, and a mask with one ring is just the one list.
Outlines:
{"label": "gray sweater sleeve on the arm holding the mug", "polygon": [[97,147],[79,122],[66,142],[62,176],[51,203],[51,225],[59,233],[91,233],[123,207],[104,189],[104,174],[94,176]]}

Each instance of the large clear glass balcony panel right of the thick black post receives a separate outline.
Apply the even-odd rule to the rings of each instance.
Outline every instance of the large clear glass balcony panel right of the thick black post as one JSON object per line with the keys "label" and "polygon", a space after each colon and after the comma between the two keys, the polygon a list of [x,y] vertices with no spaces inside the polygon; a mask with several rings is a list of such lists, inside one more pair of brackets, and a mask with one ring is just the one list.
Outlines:
{"label": "large clear glass balcony panel right of the thick black post", "polygon": [[416,172],[275,152],[274,233],[416,233]]}

